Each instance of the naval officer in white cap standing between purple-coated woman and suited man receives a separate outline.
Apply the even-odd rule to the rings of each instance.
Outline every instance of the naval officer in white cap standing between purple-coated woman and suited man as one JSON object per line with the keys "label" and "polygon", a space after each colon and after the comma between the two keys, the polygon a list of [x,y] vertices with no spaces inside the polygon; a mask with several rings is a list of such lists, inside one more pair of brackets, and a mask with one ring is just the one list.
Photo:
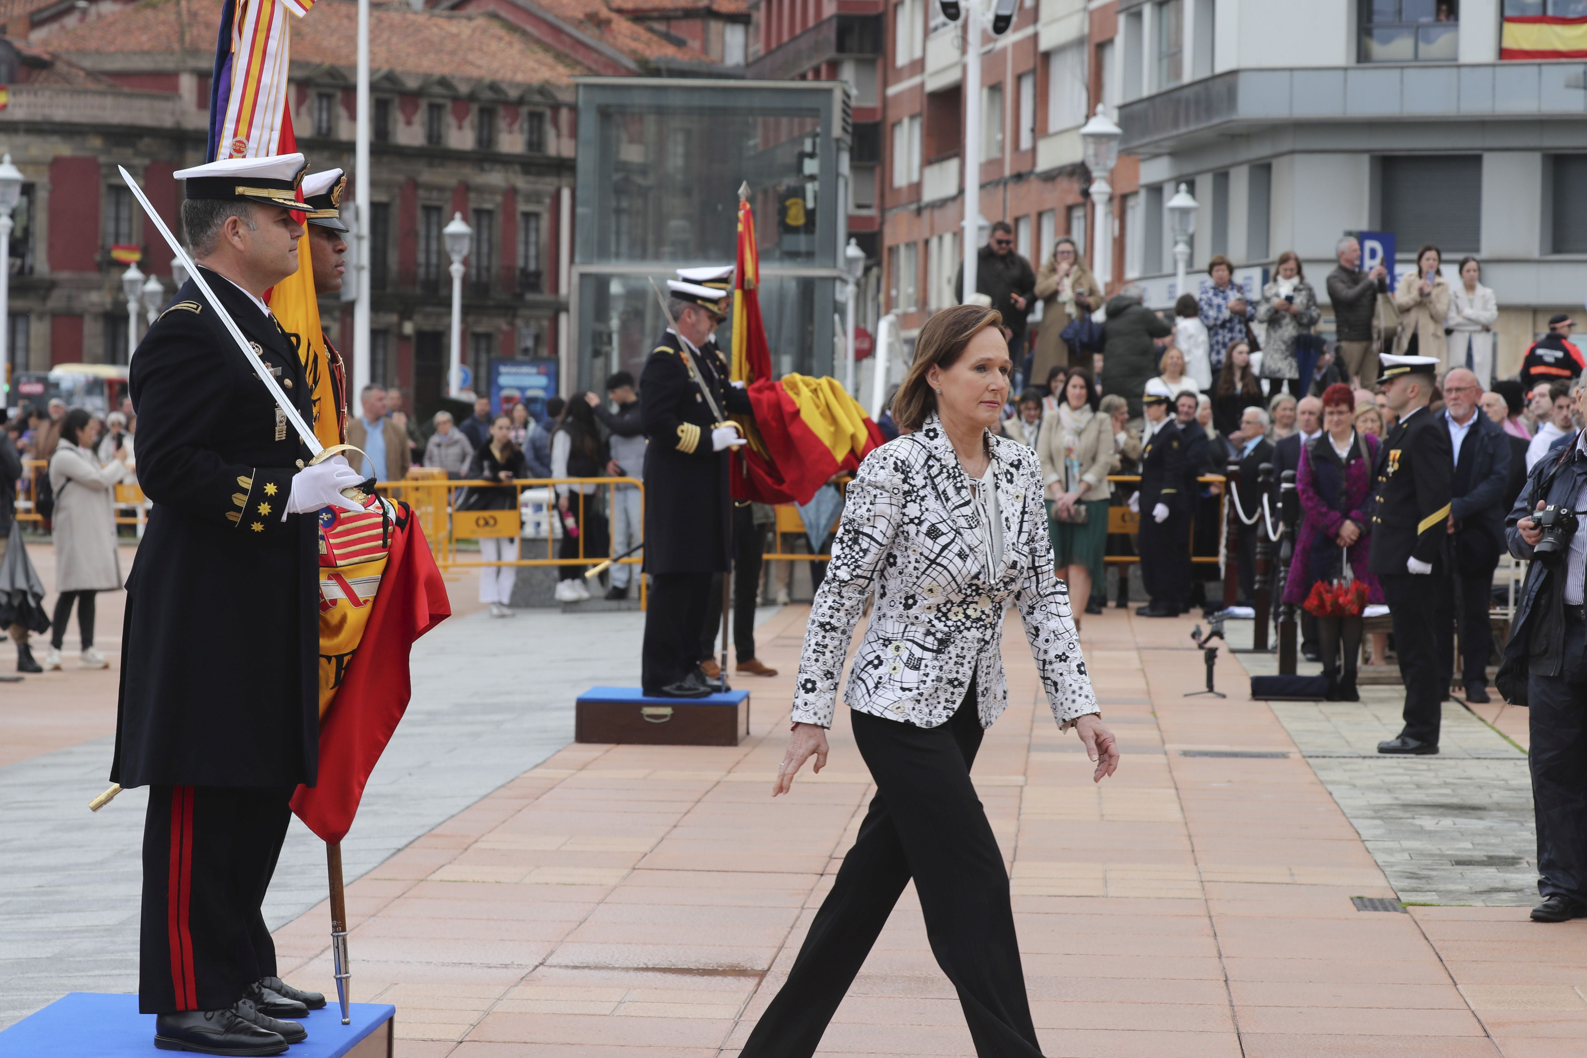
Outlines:
{"label": "naval officer in white cap standing between purple-coated woman and suited man", "polygon": [[1378,449],[1370,568],[1393,619],[1404,685],[1404,728],[1379,753],[1436,753],[1449,669],[1439,671],[1439,627],[1431,600],[1449,576],[1449,489],[1455,462],[1447,420],[1428,411],[1433,357],[1382,357],[1389,409],[1398,416]]}

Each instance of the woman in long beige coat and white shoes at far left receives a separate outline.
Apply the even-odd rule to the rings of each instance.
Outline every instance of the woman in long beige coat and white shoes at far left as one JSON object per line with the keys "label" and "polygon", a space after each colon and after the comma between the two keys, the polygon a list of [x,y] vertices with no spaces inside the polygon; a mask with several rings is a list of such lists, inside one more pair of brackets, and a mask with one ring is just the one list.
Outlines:
{"label": "woman in long beige coat and white shoes at far left", "polygon": [[52,538],[56,544],[54,627],[44,668],[60,668],[60,646],[67,638],[71,603],[78,604],[78,631],[83,633],[83,668],[106,668],[94,649],[94,593],[121,587],[121,557],[116,554],[116,482],[125,481],[125,454],[117,450],[105,466],[94,455],[100,424],[87,411],[73,408],[60,422],[60,444],[49,457],[49,485],[56,490]]}

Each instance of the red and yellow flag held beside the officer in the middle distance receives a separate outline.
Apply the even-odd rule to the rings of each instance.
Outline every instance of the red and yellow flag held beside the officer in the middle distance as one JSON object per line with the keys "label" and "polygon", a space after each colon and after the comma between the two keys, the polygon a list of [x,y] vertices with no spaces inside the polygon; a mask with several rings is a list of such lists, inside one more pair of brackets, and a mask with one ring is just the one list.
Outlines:
{"label": "red and yellow flag held beside the officer in the middle distance", "polygon": [[760,320],[760,249],[749,186],[738,192],[738,268],[733,271],[735,382],[744,382],[755,417],[735,416],[749,444],[733,452],[733,498],[809,503],[828,477],[859,470],[886,438],[835,378],[771,378]]}

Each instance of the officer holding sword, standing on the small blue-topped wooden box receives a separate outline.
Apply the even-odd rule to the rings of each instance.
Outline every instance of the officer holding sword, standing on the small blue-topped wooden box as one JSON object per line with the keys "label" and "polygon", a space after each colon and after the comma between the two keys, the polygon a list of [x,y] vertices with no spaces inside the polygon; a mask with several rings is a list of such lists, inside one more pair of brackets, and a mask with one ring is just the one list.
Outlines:
{"label": "officer holding sword, standing on the small blue-topped wooden box", "polygon": [[703,698],[714,687],[700,671],[700,630],[711,574],[727,571],[732,541],[728,449],[744,444],[728,412],[752,414],[749,397],[728,384],[714,332],[727,319],[724,286],[667,282],[674,327],[662,335],[640,374],[644,435],[644,571],[652,590],[644,614],[641,684],[646,695]]}

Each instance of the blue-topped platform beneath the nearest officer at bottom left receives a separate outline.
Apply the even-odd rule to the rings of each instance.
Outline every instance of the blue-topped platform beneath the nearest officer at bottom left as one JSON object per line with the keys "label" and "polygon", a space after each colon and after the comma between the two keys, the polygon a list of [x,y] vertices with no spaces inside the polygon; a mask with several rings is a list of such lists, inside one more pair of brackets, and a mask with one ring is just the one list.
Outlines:
{"label": "blue-topped platform beneath the nearest officer at bottom left", "polygon": [[[352,1025],[341,1023],[332,999],[297,1022],[308,1039],[290,1058],[386,1058],[392,1052],[397,1007],[354,1002]],[[138,1014],[138,996],[73,991],[0,1033],[0,1058],[162,1058],[154,1045],[154,1015]]]}

